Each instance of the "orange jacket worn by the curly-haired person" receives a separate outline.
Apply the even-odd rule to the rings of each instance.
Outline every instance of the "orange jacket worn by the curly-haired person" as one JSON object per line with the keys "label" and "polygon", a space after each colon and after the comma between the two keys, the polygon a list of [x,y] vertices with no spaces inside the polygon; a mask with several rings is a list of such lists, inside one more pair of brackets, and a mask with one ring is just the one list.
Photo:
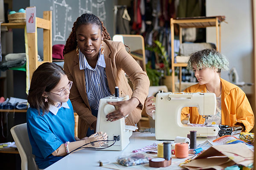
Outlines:
{"label": "orange jacket worn by the curly-haired person", "polygon": [[[244,91],[224,79],[221,79],[221,86],[221,124],[234,126],[236,123],[242,123],[245,126],[245,132],[250,132],[254,126],[254,114]],[[207,89],[206,85],[196,84],[186,88],[184,92],[205,93]],[[189,113],[190,123],[204,124],[205,119],[199,115],[196,107],[183,108],[181,111],[181,120]]]}

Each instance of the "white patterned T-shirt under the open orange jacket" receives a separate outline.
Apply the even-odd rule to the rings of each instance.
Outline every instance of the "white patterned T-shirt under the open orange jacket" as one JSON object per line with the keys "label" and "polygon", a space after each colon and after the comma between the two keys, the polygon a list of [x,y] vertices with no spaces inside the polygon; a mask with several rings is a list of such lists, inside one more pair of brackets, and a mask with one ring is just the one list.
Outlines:
{"label": "white patterned T-shirt under the open orange jacket", "polygon": [[[207,90],[209,93],[209,91]],[[207,123],[209,125],[221,125],[221,95],[216,97],[216,113],[214,116],[209,117]]]}

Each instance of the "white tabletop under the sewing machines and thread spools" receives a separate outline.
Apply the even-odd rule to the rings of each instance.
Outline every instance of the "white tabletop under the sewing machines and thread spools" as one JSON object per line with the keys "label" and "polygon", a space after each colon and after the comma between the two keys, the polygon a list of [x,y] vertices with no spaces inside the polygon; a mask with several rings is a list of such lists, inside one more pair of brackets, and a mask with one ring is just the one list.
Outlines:
{"label": "white tabletop under the sewing machines and thread spools", "polygon": [[[212,141],[216,137],[211,137],[208,140]],[[197,143],[206,141],[207,138],[198,138]],[[99,160],[108,160],[110,162],[116,162],[116,158],[122,155],[130,155],[132,150],[141,149],[145,146],[153,143],[162,143],[163,141],[157,141],[154,133],[149,132],[134,132],[130,137],[130,144],[122,151],[111,150],[95,150],[95,149],[82,149],[77,152],[71,153],[65,156],[63,159],[55,162],[45,170],[106,170],[105,167],[99,167]],[[172,156],[174,159],[175,156]],[[185,160],[185,159],[184,159]],[[180,160],[182,162],[182,160]],[[171,165],[172,166],[172,165]],[[157,169],[157,168],[155,168]]]}

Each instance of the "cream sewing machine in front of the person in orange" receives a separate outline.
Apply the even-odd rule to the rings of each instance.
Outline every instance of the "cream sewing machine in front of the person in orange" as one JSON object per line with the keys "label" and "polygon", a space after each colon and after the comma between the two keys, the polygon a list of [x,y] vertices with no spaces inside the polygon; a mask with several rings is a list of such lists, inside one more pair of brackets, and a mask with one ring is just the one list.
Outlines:
{"label": "cream sewing machine in front of the person in orange", "polygon": [[[186,137],[190,130],[197,131],[197,137],[217,136],[218,127],[192,127],[180,120],[183,107],[198,107],[200,115],[206,118],[215,115],[214,93],[163,93],[155,98],[155,136],[157,140],[174,140],[176,136]],[[207,124],[207,122],[206,122]]]}

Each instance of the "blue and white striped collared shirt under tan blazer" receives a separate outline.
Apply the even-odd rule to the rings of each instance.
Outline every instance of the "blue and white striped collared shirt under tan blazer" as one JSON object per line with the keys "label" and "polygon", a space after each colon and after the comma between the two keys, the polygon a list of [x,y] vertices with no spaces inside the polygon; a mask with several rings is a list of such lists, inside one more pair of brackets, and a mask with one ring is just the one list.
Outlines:
{"label": "blue and white striped collared shirt under tan blazer", "polygon": [[105,72],[106,63],[104,54],[99,53],[96,67],[92,68],[88,64],[84,54],[79,50],[79,66],[80,70],[84,70],[89,105],[92,109],[98,110],[99,100],[111,95]]}

